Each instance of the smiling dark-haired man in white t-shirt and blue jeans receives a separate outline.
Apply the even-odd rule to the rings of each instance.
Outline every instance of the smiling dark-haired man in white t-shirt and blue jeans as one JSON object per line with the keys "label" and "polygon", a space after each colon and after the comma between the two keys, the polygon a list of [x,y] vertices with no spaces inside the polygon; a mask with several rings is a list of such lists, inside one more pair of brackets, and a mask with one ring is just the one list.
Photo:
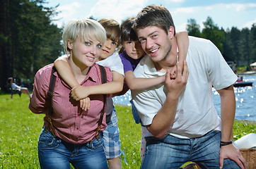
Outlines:
{"label": "smiling dark-haired man in white t-shirt and blue jeans", "polygon": [[[147,6],[136,16],[134,30],[147,54],[134,75],[166,73],[165,85],[132,91],[141,122],[149,130],[141,168],[180,168],[187,161],[201,168],[246,168],[232,144],[237,76],[216,46],[189,37],[184,70],[177,63],[177,77],[171,80],[168,69],[176,65],[178,46],[170,12],[163,6]],[[214,108],[212,86],[221,96],[221,119]]]}

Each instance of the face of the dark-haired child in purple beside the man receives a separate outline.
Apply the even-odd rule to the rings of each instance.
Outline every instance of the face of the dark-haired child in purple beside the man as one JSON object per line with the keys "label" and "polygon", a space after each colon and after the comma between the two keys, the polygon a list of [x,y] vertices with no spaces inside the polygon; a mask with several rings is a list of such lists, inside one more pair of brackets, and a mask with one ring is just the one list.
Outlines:
{"label": "face of the dark-haired child in purple beside the man", "polygon": [[127,55],[133,59],[138,59],[144,54],[144,50],[139,41],[124,41],[123,46]]}

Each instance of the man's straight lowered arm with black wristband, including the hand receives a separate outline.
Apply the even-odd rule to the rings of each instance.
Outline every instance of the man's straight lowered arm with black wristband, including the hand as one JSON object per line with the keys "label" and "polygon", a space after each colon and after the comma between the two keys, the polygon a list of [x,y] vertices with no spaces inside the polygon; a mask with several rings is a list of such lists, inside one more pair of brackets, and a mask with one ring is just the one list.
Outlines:
{"label": "man's straight lowered arm with black wristband, including the hand", "polygon": [[[235,118],[235,93],[233,85],[220,89],[221,96],[221,141],[230,142],[232,138],[233,122]],[[237,163],[240,168],[247,168],[246,161],[240,154],[240,151],[233,145],[221,146],[220,168],[223,168],[224,158],[229,158]]]}

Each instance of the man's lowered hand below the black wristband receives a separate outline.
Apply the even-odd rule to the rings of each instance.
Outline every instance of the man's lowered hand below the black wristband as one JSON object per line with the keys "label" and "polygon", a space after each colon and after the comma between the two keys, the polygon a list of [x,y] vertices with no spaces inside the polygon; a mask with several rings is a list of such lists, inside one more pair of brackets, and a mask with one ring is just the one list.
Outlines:
{"label": "man's lowered hand below the black wristband", "polygon": [[240,151],[233,144],[221,146],[221,151],[219,152],[219,168],[220,169],[223,168],[223,162],[225,158],[235,161],[235,163],[237,163],[239,167],[242,169],[247,168],[247,163],[245,161],[245,158],[243,158]]}

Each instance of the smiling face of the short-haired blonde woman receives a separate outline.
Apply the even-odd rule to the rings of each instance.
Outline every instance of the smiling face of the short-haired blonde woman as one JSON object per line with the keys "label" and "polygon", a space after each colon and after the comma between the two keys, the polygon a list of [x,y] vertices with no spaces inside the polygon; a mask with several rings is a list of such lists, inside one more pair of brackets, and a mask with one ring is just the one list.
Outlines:
{"label": "smiling face of the short-haired blonde woman", "polygon": [[96,39],[81,39],[78,37],[75,42],[69,43],[72,59],[79,68],[90,67],[100,57],[103,46]]}

